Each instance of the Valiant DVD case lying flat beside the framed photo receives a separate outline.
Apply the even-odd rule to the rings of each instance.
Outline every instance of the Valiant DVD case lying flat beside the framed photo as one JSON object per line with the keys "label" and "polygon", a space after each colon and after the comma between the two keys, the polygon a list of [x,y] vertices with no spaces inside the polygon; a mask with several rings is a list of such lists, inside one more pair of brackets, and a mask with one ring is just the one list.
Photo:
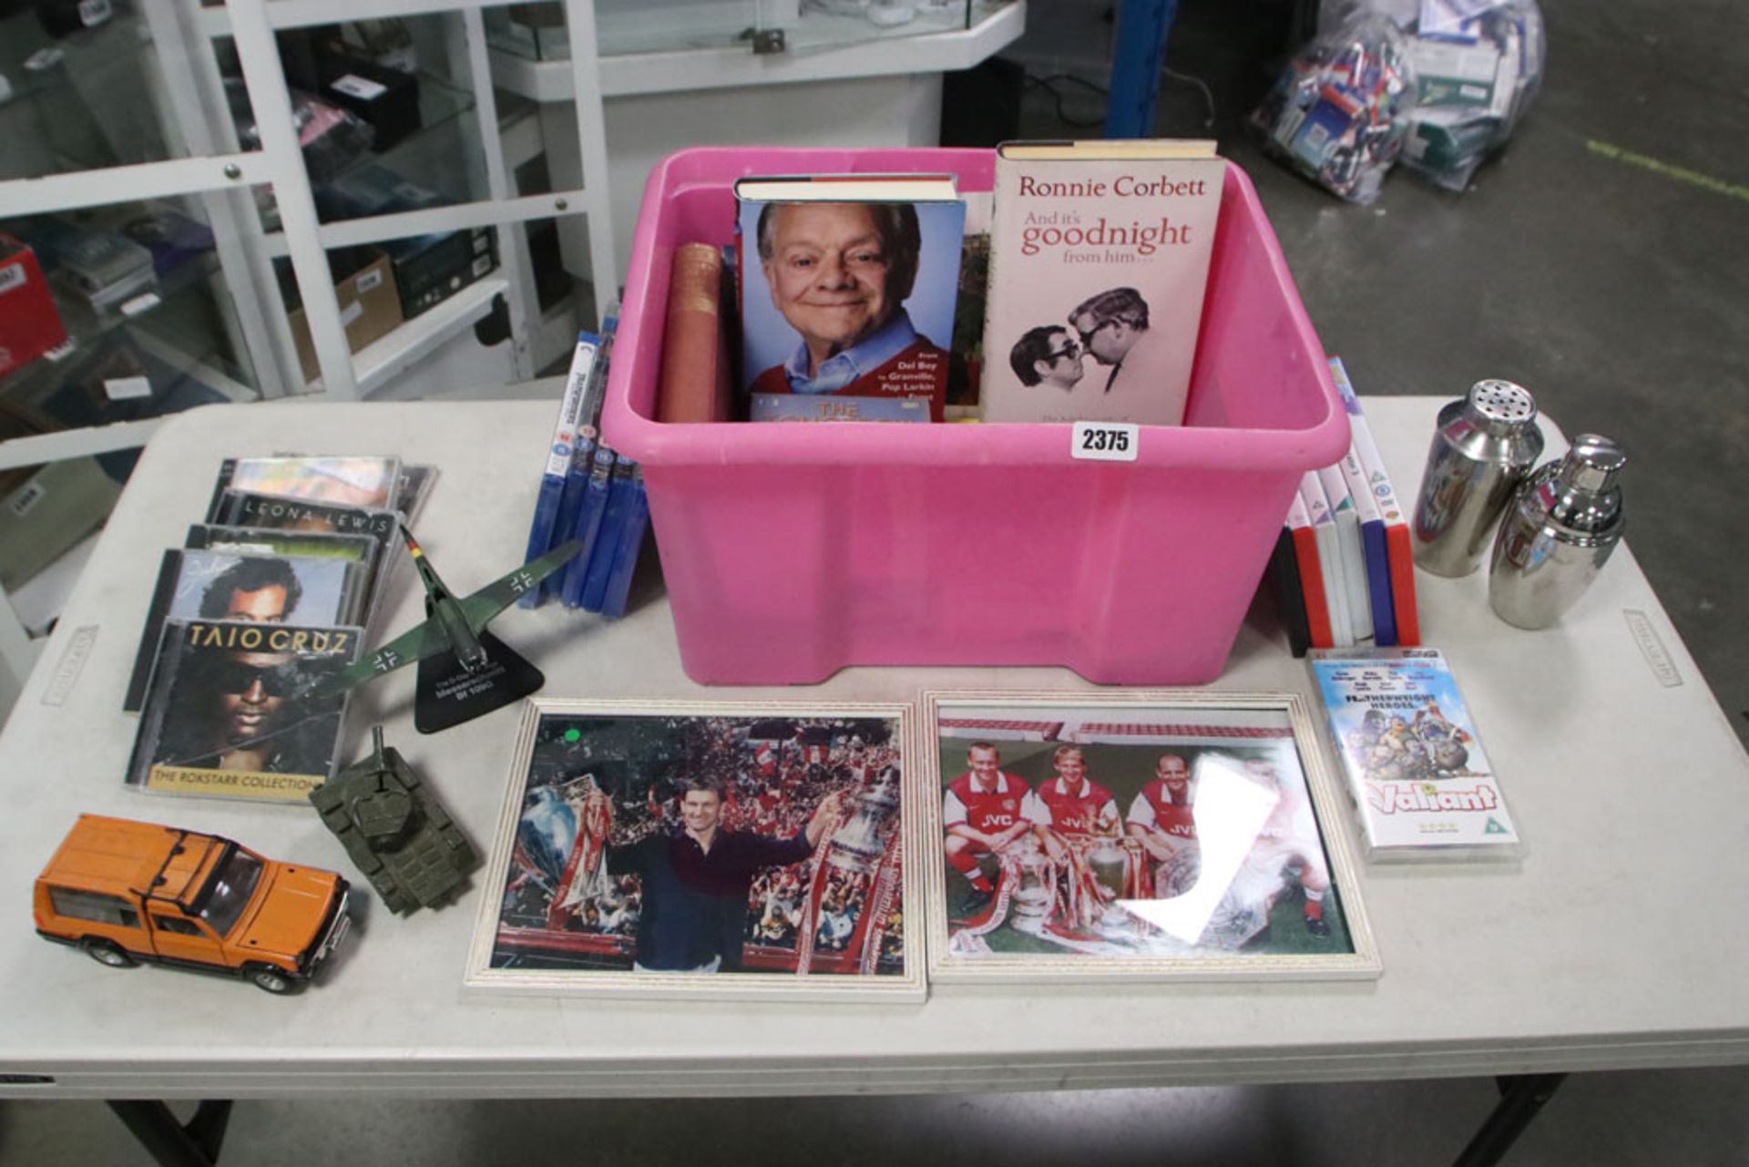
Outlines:
{"label": "Valiant DVD case lying flat beside the framed photo", "polygon": [[1366,857],[1520,859],[1523,838],[1438,649],[1315,649]]}

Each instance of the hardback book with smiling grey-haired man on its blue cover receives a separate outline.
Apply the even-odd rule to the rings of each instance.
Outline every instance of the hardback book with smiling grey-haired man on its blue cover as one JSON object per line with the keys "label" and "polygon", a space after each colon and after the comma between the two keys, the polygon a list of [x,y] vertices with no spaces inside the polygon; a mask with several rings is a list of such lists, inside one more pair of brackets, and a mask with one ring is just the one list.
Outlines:
{"label": "hardback book with smiling grey-haired man on its blue cover", "polygon": [[[943,420],[965,205],[951,175],[735,184],[756,420]],[[852,409],[813,408],[824,397]],[[801,401],[798,401],[801,399]]]}

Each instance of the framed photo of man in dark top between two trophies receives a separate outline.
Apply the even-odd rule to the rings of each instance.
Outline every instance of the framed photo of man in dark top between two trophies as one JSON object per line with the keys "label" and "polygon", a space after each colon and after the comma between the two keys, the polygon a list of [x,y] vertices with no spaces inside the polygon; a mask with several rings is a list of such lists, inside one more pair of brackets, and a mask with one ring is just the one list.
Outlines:
{"label": "framed photo of man in dark top between two trophies", "polygon": [[530,700],[467,983],[922,1001],[915,710]]}

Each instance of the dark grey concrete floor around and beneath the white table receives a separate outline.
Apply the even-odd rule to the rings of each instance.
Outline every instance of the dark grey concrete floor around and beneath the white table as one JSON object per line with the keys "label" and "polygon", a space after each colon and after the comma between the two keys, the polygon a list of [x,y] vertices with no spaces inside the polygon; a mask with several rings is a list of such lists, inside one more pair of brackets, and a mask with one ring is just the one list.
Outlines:
{"label": "dark grey concrete floor around and beneath the white table", "polygon": [[[1104,84],[1102,7],[1032,0],[1014,56],[1041,77]],[[1739,499],[1749,486],[1749,9],[1544,0],[1548,80],[1511,149],[1466,194],[1397,173],[1376,206],[1354,208],[1235,131],[1266,84],[1261,63],[1284,47],[1293,5],[1182,7],[1170,63],[1209,82],[1223,152],[1256,182],[1326,348],[1362,394],[1455,397],[1504,376],[1569,434],[1623,441],[1628,542],[1749,740],[1749,621],[1730,598],[1749,542]],[[1095,93],[1058,89],[1070,117],[1098,122]],[[1202,135],[1202,94],[1168,82],[1156,131]],[[1028,89],[1023,131],[1097,136],[1063,126],[1041,87]],[[752,1153],[810,1165],[1439,1164],[1492,1101],[1488,1080],[925,1099],[245,1101],[224,1162],[691,1164]],[[0,1162],[149,1158],[100,1102],[5,1102]],[[1749,1069],[1572,1078],[1508,1162],[1749,1164]]]}

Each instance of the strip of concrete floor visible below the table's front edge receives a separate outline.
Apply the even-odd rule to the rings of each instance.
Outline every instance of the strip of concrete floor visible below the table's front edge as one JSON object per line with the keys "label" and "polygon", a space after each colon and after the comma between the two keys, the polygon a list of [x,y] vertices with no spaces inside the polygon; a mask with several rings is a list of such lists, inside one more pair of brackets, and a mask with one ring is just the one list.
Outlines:
{"label": "strip of concrete floor visible below the table's front edge", "polygon": [[[1749,1071],[1571,1078],[1508,1167],[1742,1167]],[[226,1167],[1406,1167],[1457,1158],[1487,1080],[638,1102],[238,1102]],[[189,1108],[182,1108],[189,1111]],[[0,1106],[12,1167],[149,1167],[101,1102]]]}

